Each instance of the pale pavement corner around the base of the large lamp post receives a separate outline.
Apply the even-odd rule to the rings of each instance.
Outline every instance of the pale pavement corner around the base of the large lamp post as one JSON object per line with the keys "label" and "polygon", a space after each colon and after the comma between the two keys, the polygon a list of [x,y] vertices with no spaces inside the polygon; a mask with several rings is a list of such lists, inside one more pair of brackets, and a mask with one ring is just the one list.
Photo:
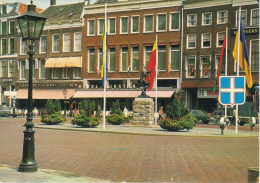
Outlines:
{"label": "pale pavement corner around the base of the large lamp post", "polygon": [[33,173],[21,173],[18,166],[0,164],[0,182],[105,182],[56,170],[38,169]]}

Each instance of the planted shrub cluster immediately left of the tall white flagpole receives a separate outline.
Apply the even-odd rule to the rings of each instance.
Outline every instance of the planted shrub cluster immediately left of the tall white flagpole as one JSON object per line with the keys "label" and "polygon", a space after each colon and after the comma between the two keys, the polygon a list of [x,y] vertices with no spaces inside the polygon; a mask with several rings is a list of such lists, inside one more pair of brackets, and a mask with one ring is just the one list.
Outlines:
{"label": "planted shrub cluster immediately left of the tall white flagpole", "polygon": [[94,116],[95,102],[83,100],[79,103],[79,114],[75,115],[71,120],[71,124],[85,127],[93,128],[100,124],[99,117]]}

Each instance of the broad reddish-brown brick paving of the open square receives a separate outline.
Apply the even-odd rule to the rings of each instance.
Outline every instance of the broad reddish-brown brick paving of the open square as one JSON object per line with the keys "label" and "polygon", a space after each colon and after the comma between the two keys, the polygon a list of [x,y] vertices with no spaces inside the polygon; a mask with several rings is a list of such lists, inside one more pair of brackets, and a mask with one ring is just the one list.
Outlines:
{"label": "broad reddish-brown brick paving of the open square", "polygon": [[[35,124],[38,122],[34,119]],[[19,166],[24,123],[25,119],[0,119],[0,163]],[[257,136],[211,138],[34,130],[39,168],[111,182],[247,182],[247,168],[259,166]]]}

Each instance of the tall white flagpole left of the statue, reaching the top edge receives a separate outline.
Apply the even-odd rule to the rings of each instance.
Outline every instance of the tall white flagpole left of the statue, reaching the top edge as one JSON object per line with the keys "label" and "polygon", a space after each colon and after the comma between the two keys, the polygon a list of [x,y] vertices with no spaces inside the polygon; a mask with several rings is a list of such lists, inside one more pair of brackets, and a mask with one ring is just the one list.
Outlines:
{"label": "tall white flagpole left of the statue, reaching the top edge", "polygon": [[[104,70],[103,70],[103,78],[104,78],[104,111],[103,111],[103,130],[106,129],[106,82],[107,82],[107,1],[105,1],[105,59],[103,59],[104,62]],[[104,48],[104,45],[103,45]],[[103,52],[104,54],[104,52]]]}

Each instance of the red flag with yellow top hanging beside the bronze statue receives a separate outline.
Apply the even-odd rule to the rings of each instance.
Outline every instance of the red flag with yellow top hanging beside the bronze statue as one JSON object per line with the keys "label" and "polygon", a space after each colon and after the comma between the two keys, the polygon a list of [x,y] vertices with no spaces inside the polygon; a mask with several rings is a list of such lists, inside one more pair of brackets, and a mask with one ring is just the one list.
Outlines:
{"label": "red flag with yellow top hanging beside the bronze statue", "polygon": [[[149,90],[151,90],[153,88],[154,77],[155,77],[155,67],[156,67],[156,48],[157,48],[157,42],[155,40],[154,44],[153,44],[153,50],[152,50],[151,56],[149,58],[148,66],[146,68],[146,70],[150,70],[151,71],[151,73],[149,74],[149,76],[150,76],[150,85],[147,88],[147,91],[149,91]],[[148,81],[148,78],[146,78],[146,80]]]}

